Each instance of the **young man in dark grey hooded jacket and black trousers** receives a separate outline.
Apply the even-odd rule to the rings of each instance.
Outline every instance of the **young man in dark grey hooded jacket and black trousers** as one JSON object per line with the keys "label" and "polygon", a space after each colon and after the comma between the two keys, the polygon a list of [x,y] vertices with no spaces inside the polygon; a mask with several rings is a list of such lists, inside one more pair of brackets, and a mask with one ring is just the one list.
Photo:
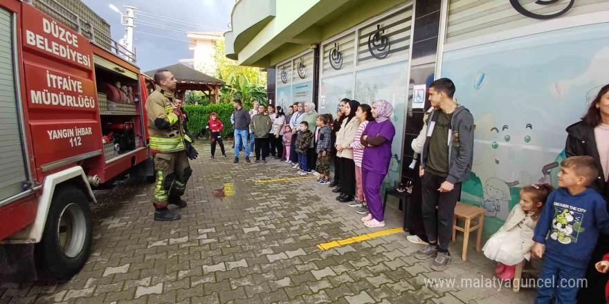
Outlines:
{"label": "young man in dark grey hooded jacket and black trousers", "polygon": [[431,268],[436,271],[443,271],[451,262],[448,243],[453,234],[455,205],[473,161],[473,116],[457,104],[454,95],[455,84],[451,79],[437,79],[429,86],[429,101],[435,110],[426,121],[419,168],[421,209],[429,245],[417,251],[415,258],[435,258]]}

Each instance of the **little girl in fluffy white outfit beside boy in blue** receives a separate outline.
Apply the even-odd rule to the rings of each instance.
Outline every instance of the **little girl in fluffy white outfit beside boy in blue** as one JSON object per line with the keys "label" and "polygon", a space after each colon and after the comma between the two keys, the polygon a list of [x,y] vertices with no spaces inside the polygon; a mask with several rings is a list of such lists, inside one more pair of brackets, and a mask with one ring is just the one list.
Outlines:
{"label": "little girl in fluffy white outfit beside boy in blue", "polygon": [[496,274],[511,280],[514,269],[522,260],[530,260],[535,225],[547,196],[554,191],[549,184],[531,184],[520,190],[520,203],[514,206],[505,224],[484,245],[484,255],[495,260]]}

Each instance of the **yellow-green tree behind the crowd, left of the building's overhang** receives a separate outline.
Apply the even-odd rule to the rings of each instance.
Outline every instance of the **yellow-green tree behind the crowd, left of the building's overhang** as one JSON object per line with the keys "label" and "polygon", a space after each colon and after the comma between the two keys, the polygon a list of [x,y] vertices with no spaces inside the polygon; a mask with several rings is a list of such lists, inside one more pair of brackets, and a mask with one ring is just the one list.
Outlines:
{"label": "yellow-green tree behind the crowd, left of the building's overhang", "polygon": [[262,72],[260,68],[250,66],[239,66],[237,61],[226,58],[225,42],[218,40],[214,44],[214,61],[217,68],[214,77],[224,80],[228,83],[230,75],[246,76],[251,86],[262,86],[266,88],[266,72]]}

